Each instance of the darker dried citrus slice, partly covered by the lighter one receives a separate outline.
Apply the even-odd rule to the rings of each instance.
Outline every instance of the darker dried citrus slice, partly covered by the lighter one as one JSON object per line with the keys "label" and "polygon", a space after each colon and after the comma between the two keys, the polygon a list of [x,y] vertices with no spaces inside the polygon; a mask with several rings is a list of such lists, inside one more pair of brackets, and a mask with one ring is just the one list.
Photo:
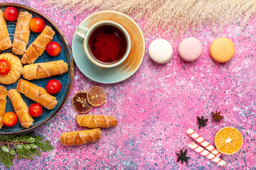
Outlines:
{"label": "darker dried citrus slice, partly covered by the lighter one", "polygon": [[78,93],[76,93],[72,99],[72,105],[73,108],[75,108],[75,111],[80,114],[87,113],[92,108],[92,105],[90,105],[90,103],[88,103],[87,101],[86,91],[79,91]]}

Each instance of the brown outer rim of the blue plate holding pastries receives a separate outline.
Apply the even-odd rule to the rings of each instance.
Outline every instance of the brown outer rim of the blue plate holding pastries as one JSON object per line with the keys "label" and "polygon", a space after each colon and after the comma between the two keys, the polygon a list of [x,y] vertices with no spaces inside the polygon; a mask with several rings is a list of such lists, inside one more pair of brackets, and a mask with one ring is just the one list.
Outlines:
{"label": "brown outer rim of the blue plate holding pastries", "polygon": [[23,134],[23,133],[26,133],[26,132],[31,132],[33,130],[36,130],[37,128],[40,128],[42,125],[47,123],[50,119],[52,119],[60,111],[61,108],[63,108],[63,105],[64,105],[65,101],[67,101],[68,96],[70,94],[70,90],[73,86],[74,60],[73,60],[73,53],[71,52],[71,49],[70,49],[70,45],[68,45],[68,40],[65,38],[65,35],[60,30],[60,28],[58,28],[58,26],[50,18],[48,18],[48,16],[46,16],[45,14],[36,10],[35,8],[31,8],[30,6],[26,6],[26,5],[14,4],[14,3],[0,3],[0,7],[3,7],[3,6],[14,6],[14,7],[18,7],[18,8],[24,8],[28,11],[32,11],[32,12],[38,14],[43,19],[46,19],[55,28],[55,30],[58,31],[58,33],[60,34],[61,39],[63,40],[63,42],[65,42],[65,47],[68,50],[68,57],[69,57],[69,60],[70,60],[70,74],[71,75],[70,75],[70,81],[68,81],[69,88],[68,88],[67,94],[65,95],[65,98],[63,99],[62,103],[60,103],[60,106],[56,109],[56,111],[52,115],[50,115],[48,118],[46,118],[46,120],[43,120],[43,122],[39,123],[38,125],[36,125],[34,127],[27,128],[27,129],[24,129],[24,130],[20,130],[18,132],[1,132],[1,130],[0,130],[0,135],[19,135],[19,134]]}

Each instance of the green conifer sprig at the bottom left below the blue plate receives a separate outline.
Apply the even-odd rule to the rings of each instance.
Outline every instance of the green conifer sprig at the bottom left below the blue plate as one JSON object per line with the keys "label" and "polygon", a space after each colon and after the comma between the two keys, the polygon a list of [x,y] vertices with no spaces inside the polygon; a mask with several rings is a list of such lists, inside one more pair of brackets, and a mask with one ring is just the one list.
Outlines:
{"label": "green conifer sprig at the bottom left below the blue plate", "polygon": [[[22,135],[0,135],[0,143],[2,146],[9,148],[3,148],[3,151],[0,147],[0,162],[8,168],[14,165],[16,155],[18,160],[33,160],[36,157],[41,157],[42,152],[53,150],[53,146],[50,144],[50,141],[45,140],[45,137],[43,136],[33,135],[32,132]],[[11,150],[14,150],[16,154],[12,151],[14,153],[11,154],[14,155],[11,155]]]}

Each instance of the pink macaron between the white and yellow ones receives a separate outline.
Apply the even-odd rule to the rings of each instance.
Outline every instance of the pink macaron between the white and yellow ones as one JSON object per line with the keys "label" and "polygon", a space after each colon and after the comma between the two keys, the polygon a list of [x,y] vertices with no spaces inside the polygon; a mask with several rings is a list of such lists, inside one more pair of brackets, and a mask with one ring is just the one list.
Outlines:
{"label": "pink macaron between the white and yellow ones", "polygon": [[178,55],[186,62],[193,62],[200,57],[203,50],[200,40],[189,37],[181,41],[178,45]]}

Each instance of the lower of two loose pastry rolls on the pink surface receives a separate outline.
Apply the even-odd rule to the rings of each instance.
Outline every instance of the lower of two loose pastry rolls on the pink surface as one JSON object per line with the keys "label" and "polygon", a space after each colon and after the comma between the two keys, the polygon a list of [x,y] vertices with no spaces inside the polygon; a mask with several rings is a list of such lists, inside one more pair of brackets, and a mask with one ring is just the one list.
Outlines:
{"label": "lower of two loose pastry rolls on the pink surface", "polygon": [[60,143],[66,146],[82,145],[100,140],[101,134],[102,132],[99,128],[75,132],[63,132],[63,134],[60,135]]}

